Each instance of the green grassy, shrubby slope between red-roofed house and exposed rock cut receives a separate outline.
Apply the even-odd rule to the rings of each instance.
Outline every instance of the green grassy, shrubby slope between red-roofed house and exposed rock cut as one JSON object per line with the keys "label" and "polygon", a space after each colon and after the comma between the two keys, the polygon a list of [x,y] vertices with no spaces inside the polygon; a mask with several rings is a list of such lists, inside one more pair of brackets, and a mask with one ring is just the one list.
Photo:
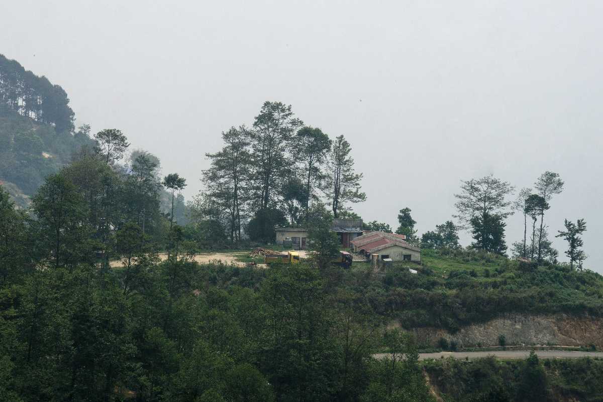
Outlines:
{"label": "green grassy, shrubby slope between red-roofed house and exposed rock cut", "polygon": [[449,255],[424,250],[421,266],[394,264],[384,277],[358,280],[359,271],[368,269],[356,265],[346,286],[362,292],[379,314],[408,327],[455,330],[504,312],[603,317],[603,277],[592,271],[561,265],[522,270],[516,261],[464,250]]}

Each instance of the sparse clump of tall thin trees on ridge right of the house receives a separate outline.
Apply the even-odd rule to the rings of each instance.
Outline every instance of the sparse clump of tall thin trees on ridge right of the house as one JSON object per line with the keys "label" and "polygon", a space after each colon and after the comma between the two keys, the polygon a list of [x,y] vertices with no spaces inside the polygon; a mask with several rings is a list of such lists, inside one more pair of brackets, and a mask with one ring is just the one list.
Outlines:
{"label": "sparse clump of tall thin trees on ridge right of the house", "polygon": [[[467,229],[472,233],[475,241],[471,247],[505,254],[505,220],[518,212],[523,218],[523,238],[511,245],[511,254],[524,261],[547,261],[556,264],[559,253],[549,240],[549,224],[546,223],[545,215],[551,208],[554,196],[563,191],[563,186],[564,182],[558,173],[547,171],[536,179],[533,189],[522,188],[516,199],[510,200],[514,187],[494,176],[463,181],[461,192],[455,194],[458,228]],[[447,224],[450,228],[455,226],[452,222]],[[573,223],[566,219],[564,226],[565,230],[559,230],[557,237],[568,243],[566,256],[569,258],[570,267],[582,268],[586,253],[580,249],[583,244],[581,234],[586,231],[586,221],[579,219]],[[444,230],[444,227],[438,227]],[[441,244],[441,241],[441,235],[427,232],[423,235],[421,244],[426,248],[439,248],[437,245]]]}

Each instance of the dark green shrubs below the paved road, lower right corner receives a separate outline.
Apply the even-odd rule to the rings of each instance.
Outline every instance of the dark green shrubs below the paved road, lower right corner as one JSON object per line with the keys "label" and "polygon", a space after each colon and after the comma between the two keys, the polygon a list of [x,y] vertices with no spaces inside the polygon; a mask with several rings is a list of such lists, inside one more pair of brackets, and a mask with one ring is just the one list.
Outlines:
{"label": "dark green shrubs below the paved road, lower right corner", "polygon": [[603,360],[445,359],[423,363],[444,402],[603,400]]}

